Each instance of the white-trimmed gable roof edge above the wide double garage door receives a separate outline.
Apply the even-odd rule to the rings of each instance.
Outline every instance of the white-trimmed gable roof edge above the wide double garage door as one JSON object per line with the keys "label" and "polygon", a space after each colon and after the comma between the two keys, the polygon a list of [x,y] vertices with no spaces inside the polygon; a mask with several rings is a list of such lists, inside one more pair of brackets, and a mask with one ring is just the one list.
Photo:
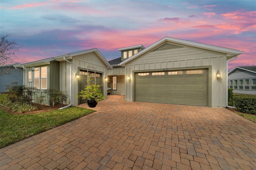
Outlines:
{"label": "white-trimmed gable roof edge above the wide double garage door", "polygon": [[164,37],[161,40],[158,40],[157,42],[153,43],[152,45],[146,47],[145,49],[143,49],[142,51],[136,53],[135,55],[133,55],[132,57],[124,60],[123,62],[120,63],[120,66],[124,66],[126,63],[132,61],[133,59],[136,59],[137,57],[139,57],[140,55],[151,51],[152,49],[154,49],[155,47],[157,47],[160,44],[163,44],[164,42],[166,43],[174,43],[174,44],[178,44],[178,45],[185,45],[185,46],[191,46],[191,47],[198,47],[201,49],[208,49],[211,51],[217,51],[217,52],[221,52],[221,53],[226,53],[227,57],[232,58],[236,55],[242,54],[243,52],[237,49],[230,49],[230,48],[225,48],[225,47],[218,47],[218,46],[214,46],[214,45],[208,45],[208,44],[204,44],[204,43],[197,43],[197,42],[191,42],[191,41],[187,41],[187,40],[181,40],[181,39],[177,39],[177,38],[171,38],[171,37]]}

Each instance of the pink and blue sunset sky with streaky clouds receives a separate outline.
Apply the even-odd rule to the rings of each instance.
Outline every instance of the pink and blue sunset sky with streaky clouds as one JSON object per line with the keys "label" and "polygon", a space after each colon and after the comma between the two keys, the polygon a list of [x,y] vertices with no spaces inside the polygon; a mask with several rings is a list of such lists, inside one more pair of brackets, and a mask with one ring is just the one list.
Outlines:
{"label": "pink and blue sunset sky with streaky clouds", "polygon": [[26,62],[92,48],[109,61],[169,36],[244,51],[229,71],[256,65],[255,0],[0,0],[0,30]]}

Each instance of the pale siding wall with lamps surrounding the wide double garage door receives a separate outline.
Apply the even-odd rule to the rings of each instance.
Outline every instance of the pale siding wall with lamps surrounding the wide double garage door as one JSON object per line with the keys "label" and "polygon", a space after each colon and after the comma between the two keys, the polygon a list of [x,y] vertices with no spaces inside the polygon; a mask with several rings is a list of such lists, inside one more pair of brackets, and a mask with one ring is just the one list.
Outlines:
{"label": "pale siding wall with lamps surrounding the wide double garage door", "polygon": [[[211,66],[209,70],[212,77],[208,83],[212,84],[212,107],[226,107],[226,54],[193,47],[181,47],[161,51],[148,52],[138,58],[126,63],[126,77],[133,71],[155,70],[168,68],[203,67]],[[209,68],[210,69],[210,68]],[[215,78],[216,72],[221,73],[221,80]],[[133,100],[134,82],[126,81],[126,100]]]}

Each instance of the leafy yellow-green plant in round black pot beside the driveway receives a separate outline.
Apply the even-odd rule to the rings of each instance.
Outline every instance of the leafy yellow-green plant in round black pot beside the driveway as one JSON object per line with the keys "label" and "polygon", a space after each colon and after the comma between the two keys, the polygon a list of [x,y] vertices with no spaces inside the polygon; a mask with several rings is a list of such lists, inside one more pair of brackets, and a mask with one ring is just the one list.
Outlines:
{"label": "leafy yellow-green plant in round black pot beside the driveway", "polygon": [[96,85],[96,81],[93,81],[93,76],[91,73],[87,75],[88,85],[85,86],[84,90],[81,90],[77,97],[82,99],[87,99],[87,104],[89,107],[96,107],[98,101],[105,99],[103,96],[100,85]]}

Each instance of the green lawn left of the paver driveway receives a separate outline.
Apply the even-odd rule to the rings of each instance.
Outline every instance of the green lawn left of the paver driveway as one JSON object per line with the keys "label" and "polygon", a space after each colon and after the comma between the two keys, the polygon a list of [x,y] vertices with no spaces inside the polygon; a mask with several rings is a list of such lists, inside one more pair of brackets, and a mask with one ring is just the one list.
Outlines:
{"label": "green lawn left of the paver driveway", "polygon": [[0,110],[0,148],[93,112],[80,107],[68,107],[31,115],[11,115]]}

